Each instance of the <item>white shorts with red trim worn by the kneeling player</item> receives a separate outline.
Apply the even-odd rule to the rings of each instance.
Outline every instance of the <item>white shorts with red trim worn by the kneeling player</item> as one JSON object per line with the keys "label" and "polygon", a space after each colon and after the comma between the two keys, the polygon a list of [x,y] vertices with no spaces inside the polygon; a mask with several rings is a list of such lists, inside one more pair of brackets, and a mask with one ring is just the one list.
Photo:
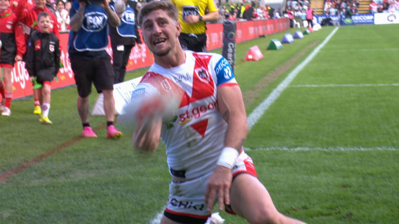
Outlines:
{"label": "white shorts with red trim worn by the kneeling player", "polygon": [[[243,150],[235,160],[233,179],[240,173],[249,173],[257,177],[251,157]],[[168,204],[164,216],[175,222],[184,224],[203,224],[211,215],[205,203],[205,190],[211,173],[190,181],[175,182],[169,185]],[[217,197],[216,197],[217,198]],[[229,205],[225,204],[226,212],[235,214]]]}

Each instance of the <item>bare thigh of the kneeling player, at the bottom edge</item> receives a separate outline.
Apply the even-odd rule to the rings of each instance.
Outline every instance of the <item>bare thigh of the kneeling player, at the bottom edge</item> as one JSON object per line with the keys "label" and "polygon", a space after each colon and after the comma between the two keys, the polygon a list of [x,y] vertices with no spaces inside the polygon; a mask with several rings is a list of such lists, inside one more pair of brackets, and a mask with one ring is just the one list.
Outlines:
{"label": "bare thigh of the kneeling player, at the bottom edge", "polygon": [[249,222],[260,216],[279,216],[267,189],[253,175],[242,173],[235,177],[230,191],[230,202],[233,211]]}

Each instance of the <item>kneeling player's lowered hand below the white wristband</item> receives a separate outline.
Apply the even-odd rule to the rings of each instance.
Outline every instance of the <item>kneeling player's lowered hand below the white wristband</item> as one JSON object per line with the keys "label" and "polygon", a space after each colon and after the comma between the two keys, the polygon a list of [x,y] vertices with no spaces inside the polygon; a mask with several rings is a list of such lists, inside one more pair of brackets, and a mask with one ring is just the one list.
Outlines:
{"label": "kneeling player's lowered hand below the white wristband", "polygon": [[219,201],[219,210],[223,210],[224,204],[230,204],[230,187],[233,175],[231,169],[223,166],[217,166],[209,177],[208,186],[205,191],[205,202],[208,205],[208,211],[211,211],[216,200]]}

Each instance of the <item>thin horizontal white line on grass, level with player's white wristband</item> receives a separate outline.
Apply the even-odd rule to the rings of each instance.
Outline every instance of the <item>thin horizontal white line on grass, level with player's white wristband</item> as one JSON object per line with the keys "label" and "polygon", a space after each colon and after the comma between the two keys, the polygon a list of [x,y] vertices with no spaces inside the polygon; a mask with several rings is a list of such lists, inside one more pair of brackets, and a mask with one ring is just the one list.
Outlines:
{"label": "thin horizontal white line on grass, level with player's white wristband", "polygon": [[270,151],[270,150],[281,150],[281,151],[399,151],[398,148],[392,147],[330,147],[330,148],[308,148],[308,147],[266,147],[266,148],[247,148],[244,147],[245,151]]}

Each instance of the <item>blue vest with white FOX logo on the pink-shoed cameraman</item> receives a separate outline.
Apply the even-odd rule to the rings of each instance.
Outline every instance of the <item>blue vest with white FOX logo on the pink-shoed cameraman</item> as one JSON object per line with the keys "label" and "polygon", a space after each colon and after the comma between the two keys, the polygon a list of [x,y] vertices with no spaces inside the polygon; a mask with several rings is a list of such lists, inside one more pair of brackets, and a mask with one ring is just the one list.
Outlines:
{"label": "blue vest with white FOX logo on the pink-shoed cameraman", "polygon": [[[72,4],[76,12],[79,6],[78,1]],[[68,44],[72,44],[77,51],[103,51],[108,46],[108,16],[105,10],[94,4],[86,5],[82,27],[78,32],[69,33]]]}

